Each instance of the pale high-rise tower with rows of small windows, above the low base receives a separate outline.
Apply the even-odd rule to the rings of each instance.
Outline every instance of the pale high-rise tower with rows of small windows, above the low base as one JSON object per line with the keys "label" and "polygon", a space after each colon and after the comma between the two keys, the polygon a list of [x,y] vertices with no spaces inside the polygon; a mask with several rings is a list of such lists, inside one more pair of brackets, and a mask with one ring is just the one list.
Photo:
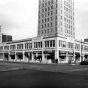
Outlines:
{"label": "pale high-rise tower with rows of small windows, above the low base", "polygon": [[74,0],[39,0],[38,36],[75,38]]}

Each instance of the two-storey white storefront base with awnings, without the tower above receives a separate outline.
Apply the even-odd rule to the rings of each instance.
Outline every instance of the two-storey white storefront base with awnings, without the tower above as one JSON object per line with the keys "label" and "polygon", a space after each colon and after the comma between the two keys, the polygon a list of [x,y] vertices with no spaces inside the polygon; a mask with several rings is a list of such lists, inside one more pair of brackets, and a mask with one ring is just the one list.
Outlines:
{"label": "two-storey white storefront base with awnings, without the tower above", "polygon": [[88,43],[61,36],[34,37],[0,45],[0,59],[68,63],[88,59]]}

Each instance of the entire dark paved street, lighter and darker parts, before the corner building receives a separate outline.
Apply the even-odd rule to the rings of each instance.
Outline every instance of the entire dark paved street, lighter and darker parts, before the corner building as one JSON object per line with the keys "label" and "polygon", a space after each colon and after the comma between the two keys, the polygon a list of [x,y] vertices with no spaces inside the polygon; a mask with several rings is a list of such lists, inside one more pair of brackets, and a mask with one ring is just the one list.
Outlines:
{"label": "entire dark paved street, lighter and darker parts, before the corner building", "polygon": [[[11,67],[20,69],[10,71]],[[0,88],[88,88],[88,76],[78,74],[88,71],[77,70],[87,66],[0,62],[0,68],[3,68],[0,72]]]}

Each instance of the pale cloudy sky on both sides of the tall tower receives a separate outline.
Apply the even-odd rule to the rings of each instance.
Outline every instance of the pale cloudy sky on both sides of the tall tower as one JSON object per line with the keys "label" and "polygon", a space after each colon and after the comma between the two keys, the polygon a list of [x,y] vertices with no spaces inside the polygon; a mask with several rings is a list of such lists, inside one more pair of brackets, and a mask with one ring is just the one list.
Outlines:
{"label": "pale cloudy sky on both sides of the tall tower", "polygon": [[[88,38],[88,0],[74,1],[76,38]],[[37,36],[38,0],[0,0],[0,25],[13,40]]]}

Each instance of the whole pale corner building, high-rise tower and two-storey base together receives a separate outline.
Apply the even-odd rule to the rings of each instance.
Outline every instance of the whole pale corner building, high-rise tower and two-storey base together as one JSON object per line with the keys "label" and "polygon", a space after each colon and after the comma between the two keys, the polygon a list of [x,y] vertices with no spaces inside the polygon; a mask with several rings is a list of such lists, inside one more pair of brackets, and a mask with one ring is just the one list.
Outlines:
{"label": "whole pale corner building, high-rise tower and two-storey base together", "polygon": [[75,39],[74,0],[39,0],[38,16],[37,37],[2,43],[1,60],[76,63],[88,58],[88,43]]}

